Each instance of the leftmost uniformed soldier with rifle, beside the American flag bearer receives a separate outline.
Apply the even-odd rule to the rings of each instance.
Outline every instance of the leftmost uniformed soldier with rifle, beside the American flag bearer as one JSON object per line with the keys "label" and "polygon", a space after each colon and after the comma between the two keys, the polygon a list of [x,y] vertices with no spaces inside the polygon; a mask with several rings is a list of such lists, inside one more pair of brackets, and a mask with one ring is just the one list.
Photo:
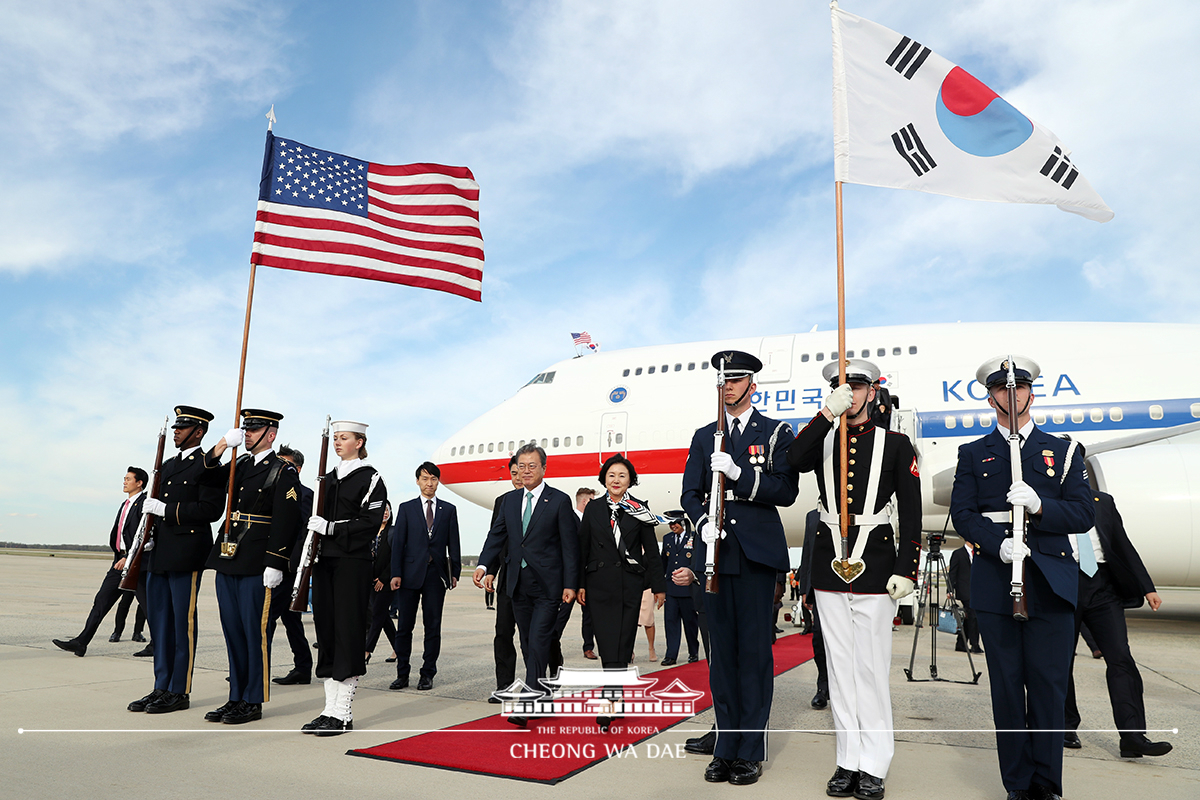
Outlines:
{"label": "leftmost uniformed soldier with rifle, beside the American flag bearer", "polygon": [[204,409],[175,407],[172,429],[179,452],[162,464],[160,497],[145,500],[145,512],[157,517],[148,546],[152,549],[146,552],[154,691],[130,703],[131,711],[167,714],[188,706],[198,630],[196,599],[229,477],[200,450],[211,421]]}

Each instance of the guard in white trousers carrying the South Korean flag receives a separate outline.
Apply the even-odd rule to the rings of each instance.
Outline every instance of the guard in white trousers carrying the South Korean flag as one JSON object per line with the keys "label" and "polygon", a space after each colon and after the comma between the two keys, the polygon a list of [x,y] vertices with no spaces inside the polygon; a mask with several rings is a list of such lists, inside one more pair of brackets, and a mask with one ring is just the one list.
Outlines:
{"label": "guard in white trousers carrying the South Korean flag", "polygon": [[[876,427],[870,361],[836,361],[822,378],[833,391],[800,431],[787,461],[816,473],[821,495],[810,576],[824,636],[829,697],[838,739],[838,768],[826,786],[834,798],[883,796],[892,765],[892,620],[895,601],[912,593],[920,552],[920,477],[908,437]],[[846,415],[848,513],[841,539],[841,446],[836,417]],[[899,531],[892,527],[894,505]],[[848,559],[844,558],[848,554]]]}

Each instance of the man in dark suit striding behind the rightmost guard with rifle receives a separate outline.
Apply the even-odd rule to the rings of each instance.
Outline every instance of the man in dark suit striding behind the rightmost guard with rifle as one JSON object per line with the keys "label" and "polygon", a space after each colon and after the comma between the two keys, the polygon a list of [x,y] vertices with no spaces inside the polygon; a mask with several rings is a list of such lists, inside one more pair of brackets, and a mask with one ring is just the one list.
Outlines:
{"label": "man in dark suit striding behind the rightmost guard with rifle", "polygon": [[[1080,447],[1080,456],[1082,456]],[[1158,610],[1163,599],[1154,590],[1154,582],[1141,563],[1121,521],[1111,494],[1094,492],[1096,527],[1075,536],[1073,546],[1079,559],[1079,602],[1075,606],[1075,633],[1087,622],[1096,644],[1104,654],[1105,676],[1112,721],[1121,732],[1121,757],[1165,756],[1171,752],[1166,741],[1146,738],[1146,704],[1142,699],[1141,674],[1129,652],[1124,609],[1138,608],[1145,602]],[[1074,645],[1075,639],[1072,639]],[[1072,670],[1075,666],[1072,646]],[[1079,708],[1075,705],[1075,679],[1067,690],[1067,747],[1076,748],[1079,741]]]}

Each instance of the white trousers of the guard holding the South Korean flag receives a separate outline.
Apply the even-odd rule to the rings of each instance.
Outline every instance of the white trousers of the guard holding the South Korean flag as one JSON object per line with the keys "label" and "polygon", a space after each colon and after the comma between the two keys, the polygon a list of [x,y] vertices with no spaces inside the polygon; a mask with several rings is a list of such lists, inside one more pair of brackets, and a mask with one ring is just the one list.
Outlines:
{"label": "white trousers of the guard holding the South Korean flag", "polygon": [[838,734],[838,766],[887,777],[892,733],[892,620],[887,595],[817,591],[826,642],[829,703]]}

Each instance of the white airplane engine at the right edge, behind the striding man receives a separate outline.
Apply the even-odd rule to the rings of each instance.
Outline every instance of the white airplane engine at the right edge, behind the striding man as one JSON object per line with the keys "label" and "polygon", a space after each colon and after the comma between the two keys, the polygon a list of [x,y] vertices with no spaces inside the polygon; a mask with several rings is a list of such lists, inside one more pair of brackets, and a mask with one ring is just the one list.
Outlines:
{"label": "white airplane engine at the right edge, behind the striding man", "polygon": [[1088,457],[1093,482],[1116,500],[1129,540],[1156,587],[1200,578],[1200,444],[1160,443]]}

